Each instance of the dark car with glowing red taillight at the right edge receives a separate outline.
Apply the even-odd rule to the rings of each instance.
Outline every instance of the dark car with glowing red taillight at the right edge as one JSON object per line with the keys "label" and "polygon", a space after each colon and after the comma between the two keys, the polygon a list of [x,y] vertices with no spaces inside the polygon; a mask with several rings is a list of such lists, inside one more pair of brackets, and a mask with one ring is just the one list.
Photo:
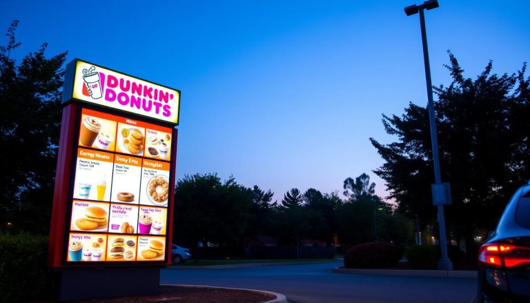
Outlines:
{"label": "dark car with glowing red taillight at the right edge", "polygon": [[530,302],[530,182],[516,190],[480,247],[475,302]]}

